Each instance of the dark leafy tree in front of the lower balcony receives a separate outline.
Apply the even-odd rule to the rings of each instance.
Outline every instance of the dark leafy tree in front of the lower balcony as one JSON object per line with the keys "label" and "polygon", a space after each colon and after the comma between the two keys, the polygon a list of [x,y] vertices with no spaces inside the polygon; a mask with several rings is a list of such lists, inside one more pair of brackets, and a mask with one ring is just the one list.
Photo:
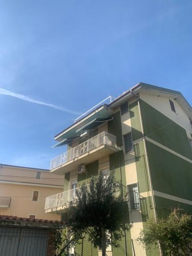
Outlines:
{"label": "dark leafy tree in front of the lower balcony", "polygon": [[121,195],[121,183],[114,175],[108,178],[99,173],[92,177],[90,185],[82,185],[76,193],[76,200],[71,202],[67,225],[75,234],[86,233],[94,247],[102,248],[105,256],[108,245],[118,246],[124,230],[130,228],[124,223],[127,203]]}

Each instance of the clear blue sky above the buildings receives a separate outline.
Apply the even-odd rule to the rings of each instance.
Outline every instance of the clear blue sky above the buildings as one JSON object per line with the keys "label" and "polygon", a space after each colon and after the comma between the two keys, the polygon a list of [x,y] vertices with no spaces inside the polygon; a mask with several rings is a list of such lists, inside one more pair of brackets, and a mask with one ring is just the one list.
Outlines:
{"label": "clear blue sky above the buildings", "polygon": [[65,151],[51,148],[54,135],[77,113],[140,81],[191,104],[191,8],[190,0],[0,1],[0,162],[48,168]]}

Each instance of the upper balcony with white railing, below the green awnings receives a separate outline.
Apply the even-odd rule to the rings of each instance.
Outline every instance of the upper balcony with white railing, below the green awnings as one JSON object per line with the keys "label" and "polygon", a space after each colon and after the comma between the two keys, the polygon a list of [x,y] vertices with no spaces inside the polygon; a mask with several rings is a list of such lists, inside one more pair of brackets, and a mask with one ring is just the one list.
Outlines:
{"label": "upper balcony with white railing, below the green awnings", "polygon": [[116,151],[118,151],[116,136],[102,132],[54,158],[50,170],[62,175],[77,168],[79,164],[91,163]]}

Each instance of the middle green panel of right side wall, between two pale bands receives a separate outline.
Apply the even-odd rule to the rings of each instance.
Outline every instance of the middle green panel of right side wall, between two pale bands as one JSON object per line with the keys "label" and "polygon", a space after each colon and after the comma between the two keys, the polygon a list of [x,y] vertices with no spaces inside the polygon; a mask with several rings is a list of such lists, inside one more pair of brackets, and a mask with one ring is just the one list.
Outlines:
{"label": "middle green panel of right side wall, between two pale bands", "polygon": [[192,201],[192,164],[146,142],[154,190]]}

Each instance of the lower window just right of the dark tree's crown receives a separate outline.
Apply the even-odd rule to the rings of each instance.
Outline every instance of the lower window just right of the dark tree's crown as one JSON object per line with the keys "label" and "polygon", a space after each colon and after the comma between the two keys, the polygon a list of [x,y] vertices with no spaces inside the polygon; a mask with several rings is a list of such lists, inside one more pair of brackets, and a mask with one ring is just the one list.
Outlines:
{"label": "lower window just right of the dark tree's crown", "polygon": [[131,210],[140,209],[139,190],[137,183],[127,186]]}

